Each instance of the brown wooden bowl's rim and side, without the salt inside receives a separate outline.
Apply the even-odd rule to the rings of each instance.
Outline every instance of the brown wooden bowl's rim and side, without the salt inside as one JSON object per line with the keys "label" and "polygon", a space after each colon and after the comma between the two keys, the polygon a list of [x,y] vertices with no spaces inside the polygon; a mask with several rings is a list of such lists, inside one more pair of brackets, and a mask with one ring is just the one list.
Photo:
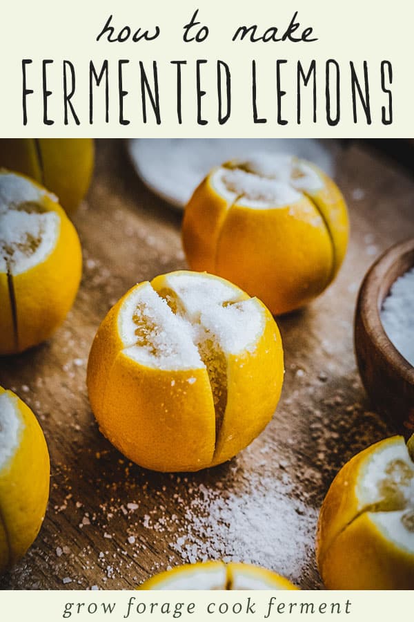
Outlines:
{"label": "brown wooden bowl's rim and side, without the salt inside", "polygon": [[355,312],[355,353],[362,382],[376,410],[396,431],[414,432],[414,367],[388,339],[380,319],[394,281],[414,266],[414,238],[386,251],[368,270]]}

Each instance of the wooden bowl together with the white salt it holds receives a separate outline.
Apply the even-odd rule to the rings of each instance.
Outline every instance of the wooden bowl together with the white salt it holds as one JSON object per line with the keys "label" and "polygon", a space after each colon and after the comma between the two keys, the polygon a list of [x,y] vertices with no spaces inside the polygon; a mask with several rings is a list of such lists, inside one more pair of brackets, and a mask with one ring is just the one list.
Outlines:
{"label": "wooden bowl together with the white salt it holds", "polygon": [[414,431],[414,238],[368,270],[355,312],[355,354],[373,405],[396,431]]}

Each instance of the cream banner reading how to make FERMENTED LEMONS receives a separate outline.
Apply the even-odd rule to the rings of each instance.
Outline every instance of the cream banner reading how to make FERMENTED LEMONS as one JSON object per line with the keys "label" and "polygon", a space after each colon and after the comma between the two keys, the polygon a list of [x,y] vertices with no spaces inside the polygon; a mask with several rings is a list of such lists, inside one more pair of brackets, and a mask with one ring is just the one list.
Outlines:
{"label": "cream banner reading how to make FERMENTED LEMONS", "polygon": [[413,136],[413,3],[14,0],[0,135]]}

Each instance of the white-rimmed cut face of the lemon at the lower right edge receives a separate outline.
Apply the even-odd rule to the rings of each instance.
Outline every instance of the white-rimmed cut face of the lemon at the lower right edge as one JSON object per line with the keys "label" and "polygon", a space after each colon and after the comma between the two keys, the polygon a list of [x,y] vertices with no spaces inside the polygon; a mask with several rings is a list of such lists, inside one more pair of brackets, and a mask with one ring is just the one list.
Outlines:
{"label": "white-rimmed cut face of the lemon at the lower right edge", "polygon": [[359,474],[356,493],[359,512],[367,511],[388,540],[414,554],[414,463],[404,439],[371,454]]}

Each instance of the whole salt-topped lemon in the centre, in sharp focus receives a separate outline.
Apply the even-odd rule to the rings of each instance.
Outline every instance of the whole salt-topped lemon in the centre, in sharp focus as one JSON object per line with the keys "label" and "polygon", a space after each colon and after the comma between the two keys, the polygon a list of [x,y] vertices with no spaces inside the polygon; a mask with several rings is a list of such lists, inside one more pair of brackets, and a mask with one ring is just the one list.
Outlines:
{"label": "whole salt-topped lemon in the centre, in sharp focus", "polygon": [[172,272],[110,310],[90,351],[88,390],[101,431],[130,460],[198,471],[264,429],[283,372],[262,302],[217,276]]}

